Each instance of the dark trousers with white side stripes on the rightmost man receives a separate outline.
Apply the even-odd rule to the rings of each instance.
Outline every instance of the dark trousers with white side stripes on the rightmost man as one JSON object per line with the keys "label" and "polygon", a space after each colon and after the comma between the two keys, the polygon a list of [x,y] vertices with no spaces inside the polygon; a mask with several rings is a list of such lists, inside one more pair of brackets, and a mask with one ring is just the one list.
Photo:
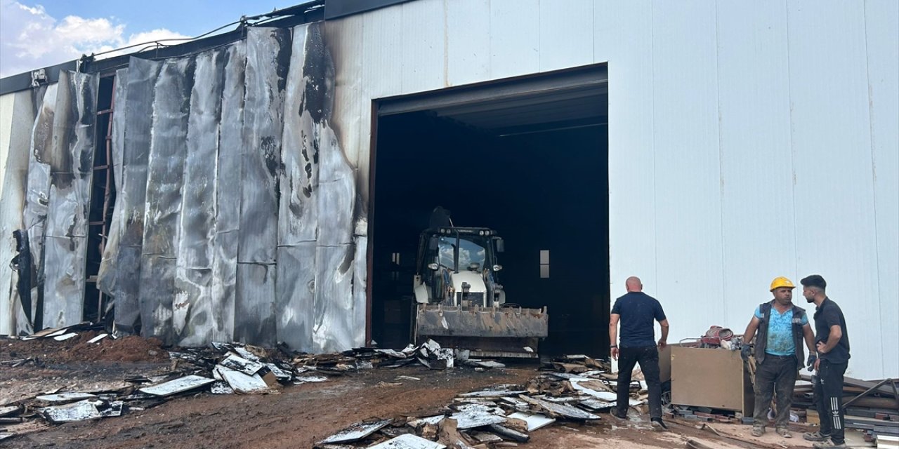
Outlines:
{"label": "dark trousers with white side stripes on the rightmost man", "polygon": [[821,419],[821,435],[829,435],[834,444],[845,442],[843,425],[842,376],[849,363],[832,364],[822,360],[814,378],[814,407]]}

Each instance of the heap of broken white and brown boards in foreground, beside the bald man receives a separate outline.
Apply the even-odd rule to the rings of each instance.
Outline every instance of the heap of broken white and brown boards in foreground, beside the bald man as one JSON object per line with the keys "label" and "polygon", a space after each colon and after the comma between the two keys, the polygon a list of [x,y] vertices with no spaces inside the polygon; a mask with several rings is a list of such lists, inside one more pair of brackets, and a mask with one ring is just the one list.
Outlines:
{"label": "heap of broken white and brown boards in foreground, beside the bald man", "polygon": [[[433,414],[355,423],[319,441],[316,448],[488,449],[519,445],[530,440],[530,432],[557,420],[599,421],[601,412],[615,406],[615,378],[606,362],[586,356],[560,357],[543,365],[529,383],[463,393]],[[630,405],[645,402],[645,389],[639,382],[627,388]]]}

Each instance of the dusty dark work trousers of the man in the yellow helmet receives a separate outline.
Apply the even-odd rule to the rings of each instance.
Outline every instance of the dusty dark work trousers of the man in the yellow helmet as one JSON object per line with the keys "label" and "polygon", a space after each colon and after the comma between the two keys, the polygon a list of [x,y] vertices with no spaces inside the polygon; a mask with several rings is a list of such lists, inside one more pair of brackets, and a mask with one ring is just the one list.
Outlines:
{"label": "dusty dark work trousers of the man in the yellow helmet", "polygon": [[778,398],[774,427],[788,426],[797,370],[796,356],[765,354],[765,359],[755,367],[755,413],[752,415],[752,426],[765,427],[768,424],[768,408],[775,392]]}

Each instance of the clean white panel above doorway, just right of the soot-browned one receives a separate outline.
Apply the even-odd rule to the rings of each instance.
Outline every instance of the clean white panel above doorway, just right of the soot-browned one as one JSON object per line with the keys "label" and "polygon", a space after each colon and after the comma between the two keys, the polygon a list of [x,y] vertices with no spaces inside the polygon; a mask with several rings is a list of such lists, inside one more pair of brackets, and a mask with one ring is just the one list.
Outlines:
{"label": "clean white panel above doorway, just right of the soot-browned one", "polygon": [[[431,91],[444,87],[446,80],[446,12],[442,0],[417,0],[400,5],[403,9],[403,92]],[[397,32],[392,30],[392,32]]]}

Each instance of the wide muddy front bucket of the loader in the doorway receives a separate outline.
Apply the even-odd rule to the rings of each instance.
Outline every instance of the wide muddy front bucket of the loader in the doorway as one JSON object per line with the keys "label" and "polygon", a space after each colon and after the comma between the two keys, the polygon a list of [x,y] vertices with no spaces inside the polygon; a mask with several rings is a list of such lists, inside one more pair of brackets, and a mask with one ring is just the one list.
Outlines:
{"label": "wide muddy front bucket of the loader in the doorway", "polygon": [[470,349],[473,357],[538,357],[548,328],[546,308],[419,304],[415,313],[416,341]]}

